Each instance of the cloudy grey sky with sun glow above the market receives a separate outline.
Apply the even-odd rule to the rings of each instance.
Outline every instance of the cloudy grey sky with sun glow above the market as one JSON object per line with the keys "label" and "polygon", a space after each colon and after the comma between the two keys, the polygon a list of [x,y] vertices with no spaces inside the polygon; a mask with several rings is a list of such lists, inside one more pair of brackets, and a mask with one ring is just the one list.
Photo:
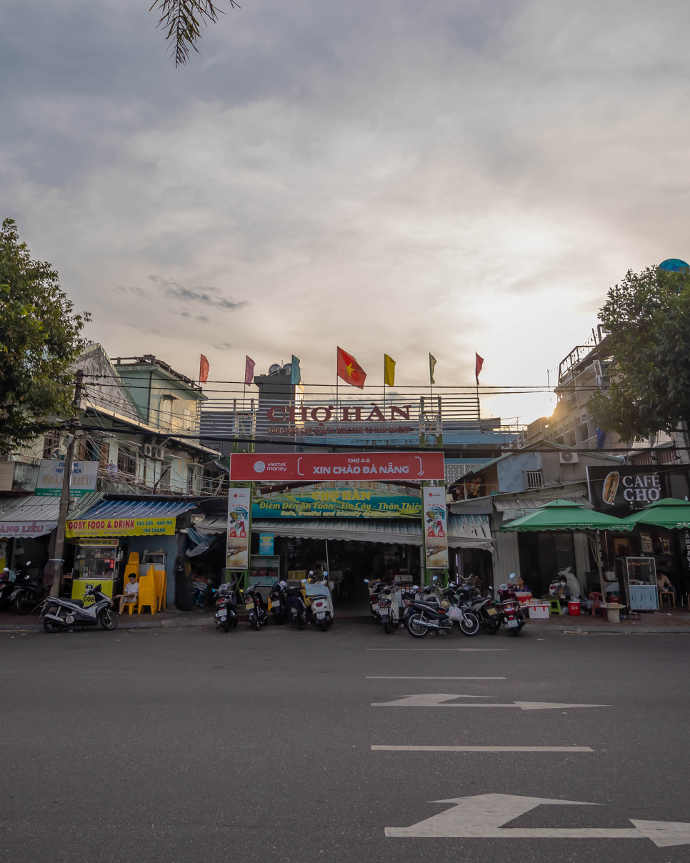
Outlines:
{"label": "cloudy grey sky with sun glow above the market", "polygon": [[0,9],[0,216],[111,356],[545,384],[690,257],[687,3],[242,0],[180,69],[149,5]]}

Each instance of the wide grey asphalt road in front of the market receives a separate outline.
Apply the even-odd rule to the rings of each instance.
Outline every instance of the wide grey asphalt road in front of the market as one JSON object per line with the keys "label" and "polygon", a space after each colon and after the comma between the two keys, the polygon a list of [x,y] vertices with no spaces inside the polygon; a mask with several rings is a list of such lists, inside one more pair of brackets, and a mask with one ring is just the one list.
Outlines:
{"label": "wide grey asphalt road in front of the market", "polygon": [[[688,660],[682,634],[415,640],[337,620],[2,633],[0,859],[690,861],[690,844],[657,847],[630,821],[690,822]],[[608,706],[372,706],[431,694]],[[593,752],[371,748],[400,745]],[[624,833],[386,836],[479,795],[603,804],[527,803],[507,828]]]}

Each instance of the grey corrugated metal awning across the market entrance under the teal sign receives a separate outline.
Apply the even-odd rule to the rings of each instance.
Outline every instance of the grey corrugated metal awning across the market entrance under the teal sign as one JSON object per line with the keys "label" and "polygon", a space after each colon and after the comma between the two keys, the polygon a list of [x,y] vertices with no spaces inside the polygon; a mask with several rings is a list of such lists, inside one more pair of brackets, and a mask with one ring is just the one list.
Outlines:
{"label": "grey corrugated metal awning across the market entrance under the teal sign", "polygon": [[[227,519],[210,517],[195,526],[199,532],[222,533]],[[279,537],[303,539],[354,539],[360,542],[422,545],[422,526],[417,519],[254,519],[252,532],[274,533]],[[486,515],[450,515],[451,548],[492,550],[492,536]]]}

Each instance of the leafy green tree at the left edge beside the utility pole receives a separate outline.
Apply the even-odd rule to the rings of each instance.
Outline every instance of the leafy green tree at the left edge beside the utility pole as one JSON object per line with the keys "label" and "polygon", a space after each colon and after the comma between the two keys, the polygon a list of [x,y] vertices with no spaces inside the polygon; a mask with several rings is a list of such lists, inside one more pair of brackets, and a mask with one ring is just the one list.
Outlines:
{"label": "leafy green tree at the left edge beside the utility pole", "polygon": [[0,453],[6,454],[74,413],[72,363],[84,350],[90,315],[72,313],[58,274],[32,261],[7,218],[0,230]]}

